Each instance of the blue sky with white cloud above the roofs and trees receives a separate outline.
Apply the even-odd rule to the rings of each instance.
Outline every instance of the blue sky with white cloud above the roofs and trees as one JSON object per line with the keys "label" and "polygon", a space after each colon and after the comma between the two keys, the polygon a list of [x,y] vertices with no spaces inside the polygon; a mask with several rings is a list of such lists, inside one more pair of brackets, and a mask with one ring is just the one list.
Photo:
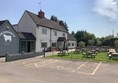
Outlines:
{"label": "blue sky with white cloud above the roofs and trees", "polygon": [[[41,3],[41,5],[39,4]],[[118,33],[118,0],[0,0],[0,20],[17,24],[25,10],[63,20],[69,32],[86,30],[96,37]]]}

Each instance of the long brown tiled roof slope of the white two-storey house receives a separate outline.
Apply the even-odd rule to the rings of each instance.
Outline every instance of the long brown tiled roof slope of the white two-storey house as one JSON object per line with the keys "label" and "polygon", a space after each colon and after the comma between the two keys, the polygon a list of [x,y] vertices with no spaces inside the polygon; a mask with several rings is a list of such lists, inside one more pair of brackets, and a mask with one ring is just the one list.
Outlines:
{"label": "long brown tiled roof slope of the white two-storey house", "polygon": [[38,26],[44,26],[44,27],[47,27],[47,28],[68,32],[64,27],[59,25],[59,23],[57,23],[57,22],[54,22],[54,21],[46,19],[46,18],[42,19],[42,18],[38,17],[38,15],[36,15],[32,12],[29,12],[29,11],[26,11],[26,12],[30,15],[30,17],[33,19],[33,21]]}

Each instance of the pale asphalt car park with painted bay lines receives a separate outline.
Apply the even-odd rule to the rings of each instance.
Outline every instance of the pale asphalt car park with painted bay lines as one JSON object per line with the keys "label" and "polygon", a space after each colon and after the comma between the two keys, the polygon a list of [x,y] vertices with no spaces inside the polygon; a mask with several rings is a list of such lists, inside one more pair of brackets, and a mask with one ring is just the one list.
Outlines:
{"label": "pale asphalt car park with painted bay lines", "polygon": [[35,57],[0,58],[0,83],[117,83],[118,64]]}

